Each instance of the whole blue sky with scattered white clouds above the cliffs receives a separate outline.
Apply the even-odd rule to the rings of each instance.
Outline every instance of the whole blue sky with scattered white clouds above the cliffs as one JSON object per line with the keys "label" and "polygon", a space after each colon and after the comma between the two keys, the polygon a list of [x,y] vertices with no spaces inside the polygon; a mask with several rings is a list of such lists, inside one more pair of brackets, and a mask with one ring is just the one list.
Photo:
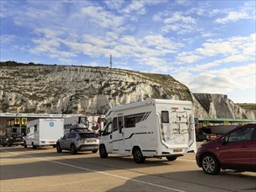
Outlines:
{"label": "whole blue sky with scattered white clouds above the cliffs", "polygon": [[1,0],[1,61],[169,74],[256,103],[255,1]]}

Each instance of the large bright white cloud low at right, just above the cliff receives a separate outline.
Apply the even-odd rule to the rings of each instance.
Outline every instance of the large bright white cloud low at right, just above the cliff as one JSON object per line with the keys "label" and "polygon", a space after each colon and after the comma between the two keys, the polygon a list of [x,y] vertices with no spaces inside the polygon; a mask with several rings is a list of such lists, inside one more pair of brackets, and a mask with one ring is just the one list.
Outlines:
{"label": "large bright white cloud low at right, just above the cliff", "polygon": [[255,64],[197,73],[180,72],[175,78],[190,87],[193,93],[231,93],[255,90]]}

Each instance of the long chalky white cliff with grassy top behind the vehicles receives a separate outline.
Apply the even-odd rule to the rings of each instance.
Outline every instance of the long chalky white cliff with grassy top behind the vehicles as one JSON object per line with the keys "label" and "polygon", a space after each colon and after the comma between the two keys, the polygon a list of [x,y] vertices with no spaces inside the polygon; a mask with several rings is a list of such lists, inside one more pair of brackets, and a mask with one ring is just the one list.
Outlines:
{"label": "long chalky white cliff with grassy top behind the vehicles", "polygon": [[255,119],[225,95],[192,94],[169,75],[108,67],[0,64],[0,112],[106,113],[147,98],[191,100],[195,116]]}

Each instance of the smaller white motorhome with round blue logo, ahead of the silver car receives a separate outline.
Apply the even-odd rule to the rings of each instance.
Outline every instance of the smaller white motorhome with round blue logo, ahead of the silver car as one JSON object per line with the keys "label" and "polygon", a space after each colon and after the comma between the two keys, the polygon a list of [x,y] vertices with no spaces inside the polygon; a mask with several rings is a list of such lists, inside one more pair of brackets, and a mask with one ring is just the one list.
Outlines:
{"label": "smaller white motorhome with round blue logo, ahead of the silver car", "polygon": [[27,123],[24,147],[56,147],[56,141],[64,135],[63,119],[38,119]]}

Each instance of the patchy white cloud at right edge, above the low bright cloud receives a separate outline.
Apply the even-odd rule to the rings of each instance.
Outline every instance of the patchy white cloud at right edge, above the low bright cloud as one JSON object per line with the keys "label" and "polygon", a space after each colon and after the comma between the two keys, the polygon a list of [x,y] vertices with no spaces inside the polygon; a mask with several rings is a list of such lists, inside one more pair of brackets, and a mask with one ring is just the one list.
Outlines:
{"label": "patchy white cloud at right edge, above the low bright cloud", "polygon": [[255,62],[255,35],[256,34],[253,33],[247,37],[210,39],[195,51],[183,51],[182,53],[178,53],[176,61],[195,64],[202,59],[211,59],[211,62],[200,62],[200,65],[196,65],[199,71],[221,64]]}

